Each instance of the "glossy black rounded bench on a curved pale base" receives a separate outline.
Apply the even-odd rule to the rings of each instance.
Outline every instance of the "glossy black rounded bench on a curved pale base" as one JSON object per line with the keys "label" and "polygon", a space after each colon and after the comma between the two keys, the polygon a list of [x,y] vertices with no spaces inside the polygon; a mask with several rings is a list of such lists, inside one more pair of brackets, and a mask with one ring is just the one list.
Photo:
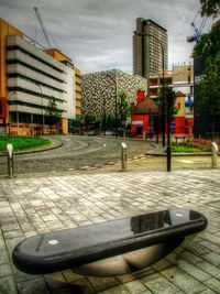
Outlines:
{"label": "glossy black rounded bench on a curved pale base", "polygon": [[186,235],[206,226],[200,213],[172,208],[30,237],[14,248],[12,260],[32,274],[64,269],[100,276],[124,274],[151,265]]}

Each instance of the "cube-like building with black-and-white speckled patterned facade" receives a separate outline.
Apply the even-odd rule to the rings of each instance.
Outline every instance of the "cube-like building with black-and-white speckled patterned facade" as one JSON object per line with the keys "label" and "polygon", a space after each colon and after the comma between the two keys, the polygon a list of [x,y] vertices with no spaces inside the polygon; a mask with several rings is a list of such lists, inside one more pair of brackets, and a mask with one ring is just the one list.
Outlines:
{"label": "cube-like building with black-and-white speckled patterned facade", "polygon": [[82,109],[85,115],[102,118],[103,112],[116,115],[119,95],[125,92],[129,104],[136,99],[138,90],[145,91],[147,81],[119,69],[98,72],[82,76]]}

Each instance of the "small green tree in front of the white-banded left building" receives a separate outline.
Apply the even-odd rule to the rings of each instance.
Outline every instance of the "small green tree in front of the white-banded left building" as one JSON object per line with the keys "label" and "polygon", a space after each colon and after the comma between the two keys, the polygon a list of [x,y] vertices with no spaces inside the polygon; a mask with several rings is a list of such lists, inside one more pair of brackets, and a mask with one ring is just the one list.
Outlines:
{"label": "small green tree in front of the white-banded left building", "polygon": [[51,133],[53,127],[57,127],[61,121],[62,110],[57,108],[56,100],[54,97],[48,99],[47,108],[46,108],[46,119],[50,124]]}

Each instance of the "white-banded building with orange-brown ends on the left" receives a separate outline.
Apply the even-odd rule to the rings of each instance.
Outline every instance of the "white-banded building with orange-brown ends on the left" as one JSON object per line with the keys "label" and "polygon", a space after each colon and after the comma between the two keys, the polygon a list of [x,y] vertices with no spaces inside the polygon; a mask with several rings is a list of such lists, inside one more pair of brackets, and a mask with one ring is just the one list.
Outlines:
{"label": "white-banded building with orange-brown ends on the left", "polygon": [[0,131],[47,133],[46,109],[53,97],[62,111],[59,131],[68,133],[76,119],[76,75],[72,59],[58,50],[36,46],[33,40],[0,19]]}

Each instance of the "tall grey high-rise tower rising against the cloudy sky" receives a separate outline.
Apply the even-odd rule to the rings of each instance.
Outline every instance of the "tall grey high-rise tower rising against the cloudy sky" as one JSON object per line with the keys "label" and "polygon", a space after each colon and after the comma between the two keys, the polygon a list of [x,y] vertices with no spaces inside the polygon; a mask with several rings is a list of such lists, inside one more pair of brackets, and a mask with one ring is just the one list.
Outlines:
{"label": "tall grey high-rise tower rising against the cloudy sky", "polygon": [[[164,52],[164,54],[163,54]],[[136,19],[133,35],[133,74],[148,78],[162,73],[168,65],[168,42],[164,28],[143,18]]]}

